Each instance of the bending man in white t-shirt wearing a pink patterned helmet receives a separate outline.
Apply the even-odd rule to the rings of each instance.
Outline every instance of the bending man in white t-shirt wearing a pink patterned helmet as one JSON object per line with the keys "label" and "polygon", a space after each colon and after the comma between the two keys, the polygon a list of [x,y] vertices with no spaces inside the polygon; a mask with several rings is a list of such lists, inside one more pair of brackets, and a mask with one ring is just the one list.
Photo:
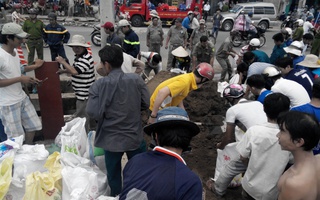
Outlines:
{"label": "bending man in white t-shirt wearing a pink patterned helmet", "polygon": [[[241,137],[235,137],[235,128],[238,126],[244,133],[250,127],[267,122],[266,114],[263,111],[263,106],[258,101],[248,101],[243,98],[244,90],[239,84],[231,84],[223,91],[223,96],[232,105],[226,113],[226,132],[223,135],[222,141],[217,144],[217,148],[224,149],[225,146],[232,142],[239,142]],[[243,136],[243,134],[242,134]],[[245,171],[246,166],[243,165],[240,159],[231,160],[228,165],[220,172],[217,180],[212,179],[206,182],[207,187],[219,196],[223,196],[231,183],[232,179]]]}

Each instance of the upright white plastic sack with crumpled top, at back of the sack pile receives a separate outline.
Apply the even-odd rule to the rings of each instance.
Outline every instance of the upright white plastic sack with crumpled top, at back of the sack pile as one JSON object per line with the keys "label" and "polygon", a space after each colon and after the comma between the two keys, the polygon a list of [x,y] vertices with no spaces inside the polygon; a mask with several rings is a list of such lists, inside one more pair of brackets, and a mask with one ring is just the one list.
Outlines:
{"label": "upright white plastic sack with crumpled top, at back of the sack pile", "polygon": [[56,145],[61,147],[61,153],[71,152],[83,156],[87,144],[85,123],[86,118],[77,117],[61,128],[55,139]]}

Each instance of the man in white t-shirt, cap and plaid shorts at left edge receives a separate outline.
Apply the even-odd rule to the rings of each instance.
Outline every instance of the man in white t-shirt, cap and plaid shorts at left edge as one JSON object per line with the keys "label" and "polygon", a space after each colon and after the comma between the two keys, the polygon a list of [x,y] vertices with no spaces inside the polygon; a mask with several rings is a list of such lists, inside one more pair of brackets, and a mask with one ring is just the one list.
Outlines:
{"label": "man in white t-shirt, cap and plaid shorts at left edge", "polygon": [[[16,50],[28,34],[16,23],[6,23],[1,30],[0,48],[0,119],[7,138],[25,136],[25,143],[32,144],[35,131],[42,125],[30,99],[21,84],[40,84],[36,78],[21,75],[20,58]],[[42,65],[36,61],[36,65]],[[34,66],[33,69],[39,66]]]}

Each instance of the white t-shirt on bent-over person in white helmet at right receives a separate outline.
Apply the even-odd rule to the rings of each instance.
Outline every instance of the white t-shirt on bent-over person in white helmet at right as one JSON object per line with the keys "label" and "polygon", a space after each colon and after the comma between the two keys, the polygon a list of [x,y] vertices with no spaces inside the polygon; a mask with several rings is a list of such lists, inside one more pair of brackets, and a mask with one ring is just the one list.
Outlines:
{"label": "white t-shirt on bent-over person in white helmet at right", "polygon": [[299,83],[280,78],[271,87],[272,92],[280,92],[290,99],[290,106],[300,106],[310,102],[308,92]]}

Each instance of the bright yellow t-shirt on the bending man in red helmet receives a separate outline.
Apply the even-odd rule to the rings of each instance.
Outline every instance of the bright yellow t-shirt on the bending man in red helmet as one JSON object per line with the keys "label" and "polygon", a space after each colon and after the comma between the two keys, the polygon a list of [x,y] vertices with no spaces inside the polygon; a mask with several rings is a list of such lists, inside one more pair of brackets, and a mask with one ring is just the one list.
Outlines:
{"label": "bright yellow t-shirt on the bending man in red helmet", "polygon": [[196,79],[192,72],[170,78],[158,85],[153,92],[150,98],[150,110],[153,109],[153,104],[159,90],[165,86],[169,88],[171,96],[165,99],[165,103],[163,103],[164,105],[162,104],[161,107],[177,106],[184,98],[188,96],[190,91],[198,89]]}

